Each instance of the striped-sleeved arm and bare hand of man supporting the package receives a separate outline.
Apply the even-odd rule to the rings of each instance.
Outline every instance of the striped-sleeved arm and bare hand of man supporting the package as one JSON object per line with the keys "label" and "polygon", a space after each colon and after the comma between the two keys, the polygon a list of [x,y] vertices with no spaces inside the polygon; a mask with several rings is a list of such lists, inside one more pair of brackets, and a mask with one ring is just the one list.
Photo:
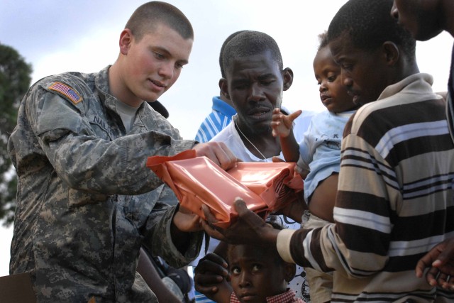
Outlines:
{"label": "striped-sleeved arm and bare hand of man supporting the package", "polygon": [[[364,148],[364,141],[358,140],[353,136],[350,138],[348,146],[355,150],[355,144],[360,144],[358,148],[370,149],[371,156],[378,162],[385,162],[380,159],[380,155],[373,154],[374,148],[368,146]],[[347,138],[347,141],[350,140]],[[358,140],[358,141],[357,141]],[[354,153],[354,151],[352,151]],[[389,233],[392,231],[389,212],[389,201],[387,200],[387,190],[393,191],[384,182],[384,173],[374,171],[371,173],[369,162],[365,161],[362,167],[345,165],[341,167],[345,174],[343,184],[341,182],[336,196],[336,209],[334,218],[336,224],[328,224],[323,228],[316,228],[309,233],[309,230],[299,229],[292,231],[285,229],[279,231],[269,231],[265,228],[265,222],[249,211],[244,202],[236,202],[238,220],[226,230],[215,229],[210,226],[213,216],[205,212],[208,224],[203,222],[205,230],[222,241],[231,243],[250,243],[258,246],[276,245],[279,255],[287,262],[297,263],[302,266],[321,268],[322,271],[330,272],[338,270],[348,276],[364,276],[365,272],[369,275],[375,274],[387,264],[389,250]],[[341,175],[340,174],[340,175]],[[365,177],[365,175],[367,177]],[[348,177],[347,177],[348,176]],[[341,186],[342,184],[342,186]],[[381,189],[377,194],[365,194],[365,184],[370,184],[371,192],[373,189]],[[351,190],[360,187],[358,190]],[[348,190],[350,189],[350,190]],[[399,194],[396,192],[396,194]],[[367,204],[362,203],[367,199]],[[361,207],[360,210],[355,206]],[[206,209],[207,212],[208,209]],[[337,217],[336,217],[337,213]],[[370,224],[370,222],[380,221],[380,225]],[[367,226],[365,228],[364,226]],[[375,229],[377,228],[377,229]],[[308,234],[311,235],[308,237]],[[330,236],[331,235],[331,236]],[[358,243],[361,235],[367,241]],[[358,248],[360,246],[360,248]],[[358,249],[355,249],[358,248]],[[311,250],[311,253],[306,253]],[[309,255],[309,258],[305,258]]]}

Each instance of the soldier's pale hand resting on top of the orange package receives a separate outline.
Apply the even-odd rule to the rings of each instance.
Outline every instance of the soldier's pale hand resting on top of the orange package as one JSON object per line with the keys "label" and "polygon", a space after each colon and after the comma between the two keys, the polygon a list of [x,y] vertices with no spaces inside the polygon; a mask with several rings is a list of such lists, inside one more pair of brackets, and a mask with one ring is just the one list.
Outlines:
{"label": "soldier's pale hand resting on top of the orange package", "polygon": [[223,142],[199,143],[194,145],[192,149],[196,151],[197,157],[204,155],[223,170],[232,168],[236,162],[240,161]]}

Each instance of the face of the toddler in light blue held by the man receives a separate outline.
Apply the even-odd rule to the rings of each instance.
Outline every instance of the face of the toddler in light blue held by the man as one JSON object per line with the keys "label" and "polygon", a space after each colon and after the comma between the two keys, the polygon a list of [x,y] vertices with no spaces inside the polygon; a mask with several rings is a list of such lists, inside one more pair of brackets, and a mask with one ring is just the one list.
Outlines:
{"label": "face of the toddler in light blue held by the man", "polygon": [[327,46],[321,48],[314,58],[314,73],[320,86],[321,102],[328,111],[341,113],[356,107],[353,97],[342,84],[341,67],[334,62]]}

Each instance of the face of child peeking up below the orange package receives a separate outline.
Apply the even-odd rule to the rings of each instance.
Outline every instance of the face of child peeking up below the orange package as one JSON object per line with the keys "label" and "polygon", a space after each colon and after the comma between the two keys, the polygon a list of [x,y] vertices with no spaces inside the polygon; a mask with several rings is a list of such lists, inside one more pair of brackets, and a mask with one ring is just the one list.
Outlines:
{"label": "face of child peeking up below the orange package", "polygon": [[[254,246],[237,245],[228,250],[233,292],[240,302],[266,303],[266,298],[287,291],[295,265],[277,261],[277,252]],[[289,270],[293,266],[293,272]]]}

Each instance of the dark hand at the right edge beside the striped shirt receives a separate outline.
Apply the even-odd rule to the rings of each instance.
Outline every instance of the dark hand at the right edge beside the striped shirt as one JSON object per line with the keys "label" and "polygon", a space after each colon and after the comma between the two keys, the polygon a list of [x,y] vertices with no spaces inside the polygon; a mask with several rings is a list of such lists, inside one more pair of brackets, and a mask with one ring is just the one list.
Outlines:
{"label": "dark hand at the right edge beside the striped shirt", "polygon": [[426,268],[428,284],[454,290],[454,237],[438,243],[418,261],[416,277],[422,277]]}

